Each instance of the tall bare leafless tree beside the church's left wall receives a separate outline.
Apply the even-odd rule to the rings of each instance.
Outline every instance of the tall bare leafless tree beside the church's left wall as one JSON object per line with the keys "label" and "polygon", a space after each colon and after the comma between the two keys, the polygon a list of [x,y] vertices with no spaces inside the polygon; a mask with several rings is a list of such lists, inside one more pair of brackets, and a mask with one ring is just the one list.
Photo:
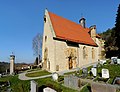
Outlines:
{"label": "tall bare leafless tree beside the church's left wall", "polygon": [[42,35],[40,33],[38,33],[33,38],[32,48],[33,48],[34,55],[38,57],[38,64],[39,64],[41,51],[42,51]]}

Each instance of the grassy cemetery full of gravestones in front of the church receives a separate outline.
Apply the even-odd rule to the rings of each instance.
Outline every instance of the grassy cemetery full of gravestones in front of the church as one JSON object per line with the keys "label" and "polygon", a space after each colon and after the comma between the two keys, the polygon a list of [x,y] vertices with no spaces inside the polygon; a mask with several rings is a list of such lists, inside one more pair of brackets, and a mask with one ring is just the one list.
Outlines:
{"label": "grassy cemetery full of gravestones in front of the church", "polygon": [[[0,88],[11,88],[15,92],[27,92],[28,90],[31,92],[49,92],[50,90],[52,92],[97,92],[96,90],[100,89],[106,89],[106,92],[119,92],[120,65],[119,59],[116,59],[100,60],[97,64],[77,68],[74,72],[63,75],[52,73],[51,77],[42,79],[22,81],[18,79],[18,75],[1,76],[0,83],[4,82],[4,85],[8,85],[9,81],[9,87],[5,88],[0,85]],[[37,77],[51,74],[44,70],[31,70],[31,72],[28,71],[26,76]]]}

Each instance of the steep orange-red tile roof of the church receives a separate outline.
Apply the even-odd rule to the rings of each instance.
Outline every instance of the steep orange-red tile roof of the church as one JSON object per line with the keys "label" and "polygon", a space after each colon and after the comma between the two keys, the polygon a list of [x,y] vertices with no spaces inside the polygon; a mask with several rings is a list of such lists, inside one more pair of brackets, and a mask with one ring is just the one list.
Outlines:
{"label": "steep orange-red tile roof of the church", "polygon": [[67,20],[51,12],[48,13],[56,38],[97,46],[97,44],[90,37],[88,28],[83,28],[80,24],[76,24],[75,22]]}

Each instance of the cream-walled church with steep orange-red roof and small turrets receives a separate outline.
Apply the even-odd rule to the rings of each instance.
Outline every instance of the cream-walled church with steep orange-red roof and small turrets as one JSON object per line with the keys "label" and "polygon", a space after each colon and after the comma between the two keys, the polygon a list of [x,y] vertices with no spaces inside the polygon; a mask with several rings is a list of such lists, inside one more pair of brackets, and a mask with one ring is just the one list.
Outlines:
{"label": "cream-walled church with steep orange-red roof and small turrets", "polygon": [[95,25],[87,28],[85,18],[75,23],[45,10],[43,69],[56,72],[81,68],[102,59],[102,51],[104,43]]}

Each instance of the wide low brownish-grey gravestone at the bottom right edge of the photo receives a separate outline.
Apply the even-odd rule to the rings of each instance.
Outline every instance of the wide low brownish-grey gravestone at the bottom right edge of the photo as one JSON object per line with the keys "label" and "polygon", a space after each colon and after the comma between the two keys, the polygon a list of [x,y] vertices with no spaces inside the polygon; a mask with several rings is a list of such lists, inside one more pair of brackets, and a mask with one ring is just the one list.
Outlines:
{"label": "wide low brownish-grey gravestone at the bottom right edge of the photo", "polygon": [[92,83],[92,92],[116,92],[116,88],[110,84]]}

